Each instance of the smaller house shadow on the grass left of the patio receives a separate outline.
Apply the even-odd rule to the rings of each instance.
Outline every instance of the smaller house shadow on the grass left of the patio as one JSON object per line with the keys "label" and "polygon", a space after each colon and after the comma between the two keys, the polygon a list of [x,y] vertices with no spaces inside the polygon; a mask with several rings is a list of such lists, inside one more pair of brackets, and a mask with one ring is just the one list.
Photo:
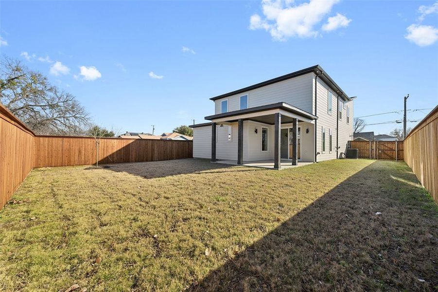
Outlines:
{"label": "smaller house shadow on the grass left of the patio", "polygon": [[[260,171],[262,169],[238,167],[236,165],[210,163],[207,159],[177,159],[153,162],[134,162],[99,165],[99,169],[126,172],[145,179],[163,178],[180,174],[224,173],[230,171]],[[95,166],[87,170],[97,169]]]}

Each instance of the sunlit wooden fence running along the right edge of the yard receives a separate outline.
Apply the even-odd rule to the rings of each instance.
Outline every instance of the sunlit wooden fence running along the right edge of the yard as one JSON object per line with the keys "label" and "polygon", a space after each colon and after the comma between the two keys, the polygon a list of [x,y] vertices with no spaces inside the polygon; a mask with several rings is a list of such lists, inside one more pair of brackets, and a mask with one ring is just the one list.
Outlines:
{"label": "sunlit wooden fence running along the right edge of the yard", "polygon": [[438,106],[404,139],[404,161],[438,203]]}

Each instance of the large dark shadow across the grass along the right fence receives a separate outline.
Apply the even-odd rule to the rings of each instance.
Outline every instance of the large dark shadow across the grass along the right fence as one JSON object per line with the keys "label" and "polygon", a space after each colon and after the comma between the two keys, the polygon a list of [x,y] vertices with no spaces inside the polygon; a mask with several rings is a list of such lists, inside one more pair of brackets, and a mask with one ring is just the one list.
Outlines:
{"label": "large dark shadow across the grass along the right fence", "polygon": [[189,291],[436,289],[437,208],[418,184],[404,163],[370,164]]}

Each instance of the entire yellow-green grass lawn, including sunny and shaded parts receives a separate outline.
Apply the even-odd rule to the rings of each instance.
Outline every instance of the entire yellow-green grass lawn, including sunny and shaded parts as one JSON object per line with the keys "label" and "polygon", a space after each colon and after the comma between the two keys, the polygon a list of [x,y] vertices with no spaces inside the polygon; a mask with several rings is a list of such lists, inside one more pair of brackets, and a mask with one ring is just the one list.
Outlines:
{"label": "entire yellow-green grass lawn, including sunny and shaded parts", "polygon": [[40,168],[0,211],[0,291],[436,290],[437,237],[403,162]]}

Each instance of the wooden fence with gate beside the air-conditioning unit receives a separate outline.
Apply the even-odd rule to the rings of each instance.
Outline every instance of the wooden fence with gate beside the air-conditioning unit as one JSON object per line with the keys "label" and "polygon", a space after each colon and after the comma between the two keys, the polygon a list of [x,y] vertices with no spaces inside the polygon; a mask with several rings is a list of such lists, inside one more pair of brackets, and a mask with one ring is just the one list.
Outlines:
{"label": "wooden fence with gate beside the air-conditioning unit", "polygon": [[349,141],[349,147],[359,149],[359,158],[404,159],[403,141]]}

